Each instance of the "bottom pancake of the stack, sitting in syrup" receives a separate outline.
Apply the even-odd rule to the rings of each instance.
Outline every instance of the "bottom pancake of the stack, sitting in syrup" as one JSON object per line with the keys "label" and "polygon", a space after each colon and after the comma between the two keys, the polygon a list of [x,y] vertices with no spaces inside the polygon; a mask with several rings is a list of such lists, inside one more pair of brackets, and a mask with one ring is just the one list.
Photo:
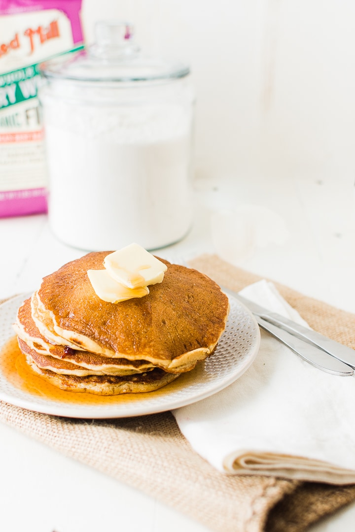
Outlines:
{"label": "bottom pancake of the stack, sitting in syrup", "polygon": [[114,375],[77,377],[59,375],[51,370],[40,369],[30,356],[27,357],[27,363],[38,375],[58,388],[68,392],[87,392],[95,395],[153,392],[179,377],[160,368],[154,368],[152,371],[127,377]]}

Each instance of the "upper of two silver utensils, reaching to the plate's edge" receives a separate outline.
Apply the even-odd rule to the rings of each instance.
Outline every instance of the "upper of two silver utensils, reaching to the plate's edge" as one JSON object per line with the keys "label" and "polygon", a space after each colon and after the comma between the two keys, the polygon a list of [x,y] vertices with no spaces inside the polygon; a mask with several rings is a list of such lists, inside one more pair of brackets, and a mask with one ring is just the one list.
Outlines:
{"label": "upper of two silver utensils, reaching to the plate's edge", "polygon": [[304,342],[319,347],[329,355],[334,356],[336,359],[350,365],[351,368],[355,369],[355,351],[351,349],[351,347],[340,344],[335,340],[331,340],[331,338],[327,338],[326,336],[312,329],[303,327],[302,325],[299,325],[288,318],[284,318],[282,315],[277,314],[276,312],[271,312],[265,307],[248,300],[238,292],[234,292],[228,288],[221,288],[229,294],[232,294],[237,300],[248,307],[255,316],[259,316],[263,320],[281,329],[284,329],[287,332],[290,332],[293,336],[304,340]]}

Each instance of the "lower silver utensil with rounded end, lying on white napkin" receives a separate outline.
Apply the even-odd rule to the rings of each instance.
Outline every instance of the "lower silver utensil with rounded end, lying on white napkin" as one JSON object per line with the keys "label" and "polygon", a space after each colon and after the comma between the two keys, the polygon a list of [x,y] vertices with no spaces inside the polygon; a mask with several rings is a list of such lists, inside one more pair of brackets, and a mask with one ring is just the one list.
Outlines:
{"label": "lower silver utensil with rounded end, lying on white napkin", "polygon": [[270,332],[271,335],[275,336],[280,342],[287,347],[290,347],[294,353],[301,356],[303,360],[306,360],[316,368],[326,371],[327,373],[332,373],[332,375],[343,377],[353,375],[353,369],[350,368],[349,365],[344,364],[322,349],[319,349],[308,342],[304,342],[301,338],[293,336],[284,328],[281,329],[280,326],[276,326],[260,316],[255,316],[255,319],[260,327]]}

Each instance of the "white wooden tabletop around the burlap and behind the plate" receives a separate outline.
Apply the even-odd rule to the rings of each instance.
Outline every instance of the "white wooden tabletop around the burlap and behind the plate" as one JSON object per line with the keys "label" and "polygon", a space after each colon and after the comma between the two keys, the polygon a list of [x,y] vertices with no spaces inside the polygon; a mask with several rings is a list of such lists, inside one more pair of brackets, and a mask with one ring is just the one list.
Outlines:
{"label": "white wooden tabletop around the burlap and behind the plate", "polygon": [[[215,250],[211,215],[254,204],[286,224],[282,245],[258,247],[240,265],[308,296],[355,313],[353,184],[307,176],[196,181],[190,234],[160,250],[192,257]],[[233,234],[229,236],[230,246]],[[0,298],[29,292],[42,276],[84,254],[57,242],[46,215],[0,220]],[[12,428],[0,425],[0,528],[4,532],[202,532],[207,529],[154,498],[85,467]],[[355,505],[326,519],[317,532],[354,529]]]}

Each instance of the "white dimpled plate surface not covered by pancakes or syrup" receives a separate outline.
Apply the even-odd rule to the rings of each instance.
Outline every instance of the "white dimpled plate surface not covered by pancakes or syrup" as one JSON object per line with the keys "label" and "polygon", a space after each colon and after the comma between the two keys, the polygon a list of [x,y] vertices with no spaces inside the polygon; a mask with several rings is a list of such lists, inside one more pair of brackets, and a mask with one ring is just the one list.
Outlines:
{"label": "white dimpled plate surface not covered by pancakes or syrup", "polygon": [[[12,323],[22,301],[29,295],[11,298],[0,305],[0,348],[14,336]],[[31,395],[16,388],[3,375],[0,369],[0,400],[26,410],[44,414],[59,415],[68,418],[107,419],[126,418],[135,415],[154,414],[174,410],[181,406],[201,401],[220,392],[232,384],[253,363],[260,346],[260,329],[252,313],[234,297],[229,296],[230,312],[227,326],[222,334],[214,354],[202,362],[193,383],[181,384],[179,379],[174,381],[174,390],[169,394],[146,398],[142,402],[135,399],[128,403],[110,405],[75,405],[47,400]],[[194,372],[195,370],[192,370]],[[192,373],[191,372],[191,373]],[[168,389],[168,386],[165,387]]]}

